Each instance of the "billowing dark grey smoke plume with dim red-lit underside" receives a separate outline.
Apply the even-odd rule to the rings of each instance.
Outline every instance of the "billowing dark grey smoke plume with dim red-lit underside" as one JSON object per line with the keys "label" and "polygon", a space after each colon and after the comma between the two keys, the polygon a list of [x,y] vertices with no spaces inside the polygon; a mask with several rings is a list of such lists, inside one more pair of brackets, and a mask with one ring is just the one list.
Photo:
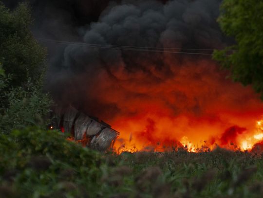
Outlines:
{"label": "billowing dark grey smoke plume with dim red-lit underside", "polygon": [[[178,52],[184,52],[180,48],[222,48],[224,39],[215,20],[219,4],[220,0],[172,0],[165,4],[124,0],[107,7],[97,22],[80,27],[77,39],[103,45],[179,48]],[[54,63],[48,81],[58,101],[65,100],[89,114],[108,117],[121,109],[118,101],[103,100],[103,89],[122,89],[122,97],[147,98],[144,90],[174,78],[186,59],[195,62],[204,57],[69,45]],[[58,80],[58,76],[62,79]],[[104,80],[107,88],[100,87]],[[139,84],[138,89],[143,90],[135,88],[134,92],[134,88],[124,84]],[[184,93],[177,94],[184,97]],[[193,108],[198,113],[198,102]]]}

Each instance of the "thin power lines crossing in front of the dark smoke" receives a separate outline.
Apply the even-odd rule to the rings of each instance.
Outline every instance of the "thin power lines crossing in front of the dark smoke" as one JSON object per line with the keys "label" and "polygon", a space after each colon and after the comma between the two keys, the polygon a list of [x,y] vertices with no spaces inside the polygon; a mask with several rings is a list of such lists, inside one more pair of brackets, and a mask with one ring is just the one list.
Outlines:
{"label": "thin power lines crossing in front of the dark smoke", "polygon": [[[67,44],[67,45],[75,45],[75,46],[82,46],[82,47],[85,46],[85,47],[113,49],[113,50],[139,51],[139,52],[212,55],[212,54],[207,54],[207,53],[175,52],[175,51],[171,51],[171,50],[213,51],[212,49],[158,48],[158,47],[136,47],[136,46],[121,46],[121,45],[103,45],[103,44],[91,44],[91,43],[83,43],[83,42],[61,41],[61,40],[54,40],[54,39],[47,39],[47,38],[38,38],[38,37],[37,37],[37,39],[40,42],[45,42],[45,43]],[[229,50],[229,51],[234,51],[234,50]]]}

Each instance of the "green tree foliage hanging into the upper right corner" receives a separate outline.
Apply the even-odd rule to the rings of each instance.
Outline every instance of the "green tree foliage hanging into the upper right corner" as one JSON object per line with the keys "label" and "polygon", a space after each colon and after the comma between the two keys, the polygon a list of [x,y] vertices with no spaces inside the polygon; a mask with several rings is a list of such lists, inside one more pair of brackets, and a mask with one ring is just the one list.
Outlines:
{"label": "green tree foliage hanging into the upper right corner", "polygon": [[213,58],[230,71],[234,81],[252,85],[263,100],[263,1],[224,0],[218,21],[236,44],[215,50]]}

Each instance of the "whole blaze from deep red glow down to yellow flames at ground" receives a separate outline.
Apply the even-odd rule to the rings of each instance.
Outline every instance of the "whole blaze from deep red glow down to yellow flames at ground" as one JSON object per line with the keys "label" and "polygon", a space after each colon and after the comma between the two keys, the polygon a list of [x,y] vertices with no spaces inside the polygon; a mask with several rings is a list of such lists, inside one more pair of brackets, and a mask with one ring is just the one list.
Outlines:
{"label": "whole blaze from deep red glow down to yellow flames at ground", "polygon": [[101,72],[96,89],[89,91],[88,114],[120,132],[117,152],[247,150],[260,141],[254,136],[263,133],[263,103],[250,87],[226,80],[211,61],[186,60],[179,67],[165,57],[174,73],[169,75],[148,59],[139,60],[136,64],[149,72],[131,74],[117,65],[114,81]]}

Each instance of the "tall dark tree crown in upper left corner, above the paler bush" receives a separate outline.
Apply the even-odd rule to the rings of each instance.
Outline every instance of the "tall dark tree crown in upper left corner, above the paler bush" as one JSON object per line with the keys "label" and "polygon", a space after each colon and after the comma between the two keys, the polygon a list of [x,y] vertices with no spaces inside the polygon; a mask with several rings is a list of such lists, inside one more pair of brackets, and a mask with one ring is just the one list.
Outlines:
{"label": "tall dark tree crown in upper left corner, above the paler bush", "polygon": [[10,12],[0,2],[0,62],[6,75],[12,74],[12,87],[26,83],[28,76],[38,80],[43,72],[46,51],[30,31],[32,21],[27,4]]}

